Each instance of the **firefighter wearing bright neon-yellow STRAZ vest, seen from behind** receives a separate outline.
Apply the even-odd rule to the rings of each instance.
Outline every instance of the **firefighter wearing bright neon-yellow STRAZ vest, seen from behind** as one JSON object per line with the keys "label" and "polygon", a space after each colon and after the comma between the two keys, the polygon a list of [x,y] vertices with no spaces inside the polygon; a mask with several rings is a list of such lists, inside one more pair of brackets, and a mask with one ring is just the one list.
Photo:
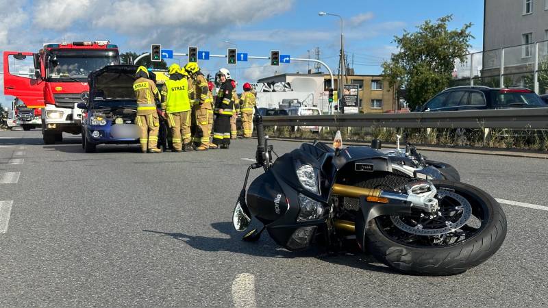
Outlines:
{"label": "firefighter wearing bright neon-yellow STRAZ vest, seen from behind", "polygon": [[179,64],[171,64],[169,80],[162,86],[162,114],[167,118],[171,128],[175,152],[192,151],[189,84],[190,81],[185,77]]}

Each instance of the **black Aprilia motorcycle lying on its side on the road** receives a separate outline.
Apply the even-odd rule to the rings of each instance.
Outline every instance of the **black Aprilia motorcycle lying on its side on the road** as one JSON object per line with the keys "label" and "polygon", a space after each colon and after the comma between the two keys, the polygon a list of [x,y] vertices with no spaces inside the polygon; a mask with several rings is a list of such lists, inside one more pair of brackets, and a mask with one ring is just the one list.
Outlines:
{"label": "black Aprilia motorcycle lying on its side on the road", "polygon": [[[336,138],[333,147],[302,144],[273,162],[259,112],[255,121],[256,163],[247,168],[233,222],[243,232],[255,217],[264,227],[242,240],[256,241],[266,229],[290,251],[357,244],[400,272],[449,275],[486,261],[506,237],[506,216],[492,196],[411,144],[381,151],[373,140],[371,147],[343,148]],[[246,190],[257,168],[265,172]]]}

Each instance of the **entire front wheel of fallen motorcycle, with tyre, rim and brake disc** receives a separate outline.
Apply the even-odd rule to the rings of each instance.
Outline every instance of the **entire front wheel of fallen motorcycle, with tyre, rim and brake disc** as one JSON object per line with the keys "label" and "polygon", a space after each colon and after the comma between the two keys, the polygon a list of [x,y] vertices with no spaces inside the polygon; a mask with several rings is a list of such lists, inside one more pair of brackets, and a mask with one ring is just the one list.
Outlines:
{"label": "entire front wheel of fallen motorcycle, with tyre, rim and brake disc", "polygon": [[492,196],[465,183],[433,183],[438,213],[380,216],[363,231],[367,251],[399,272],[459,274],[489,259],[506,238],[506,216]]}

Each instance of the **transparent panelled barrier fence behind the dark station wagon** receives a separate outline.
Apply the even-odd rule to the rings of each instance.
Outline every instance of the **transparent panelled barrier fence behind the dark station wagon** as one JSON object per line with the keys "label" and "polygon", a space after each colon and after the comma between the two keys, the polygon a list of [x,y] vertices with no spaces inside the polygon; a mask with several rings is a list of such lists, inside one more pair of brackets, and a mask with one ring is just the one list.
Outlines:
{"label": "transparent panelled barrier fence behind the dark station wagon", "polygon": [[451,86],[524,87],[548,94],[548,40],[466,55]]}

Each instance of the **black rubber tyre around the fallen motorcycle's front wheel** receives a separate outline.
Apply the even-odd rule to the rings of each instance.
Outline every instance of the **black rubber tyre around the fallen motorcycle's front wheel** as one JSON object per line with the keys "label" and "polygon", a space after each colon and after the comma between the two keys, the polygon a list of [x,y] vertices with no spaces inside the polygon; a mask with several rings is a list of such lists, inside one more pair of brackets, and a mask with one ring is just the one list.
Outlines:
{"label": "black rubber tyre around the fallen motorcycle's front wheel", "polygon": [[[427,276],[460,274],[489,259],[506,238],[506,216],[492,196],[465,183],[433,183],[438,192],[446,190],[463,196],[470,203],[479,227],[465,224],[454,232],[429,236],[397,228],[394,217],[381,216],[371,220],[363,231],[367,251],[399,272]],[[443,201],[440,202],[443,205]],[[398,221],[402,220],[416,222],[416,218],[408,217],[401,217]]]}

